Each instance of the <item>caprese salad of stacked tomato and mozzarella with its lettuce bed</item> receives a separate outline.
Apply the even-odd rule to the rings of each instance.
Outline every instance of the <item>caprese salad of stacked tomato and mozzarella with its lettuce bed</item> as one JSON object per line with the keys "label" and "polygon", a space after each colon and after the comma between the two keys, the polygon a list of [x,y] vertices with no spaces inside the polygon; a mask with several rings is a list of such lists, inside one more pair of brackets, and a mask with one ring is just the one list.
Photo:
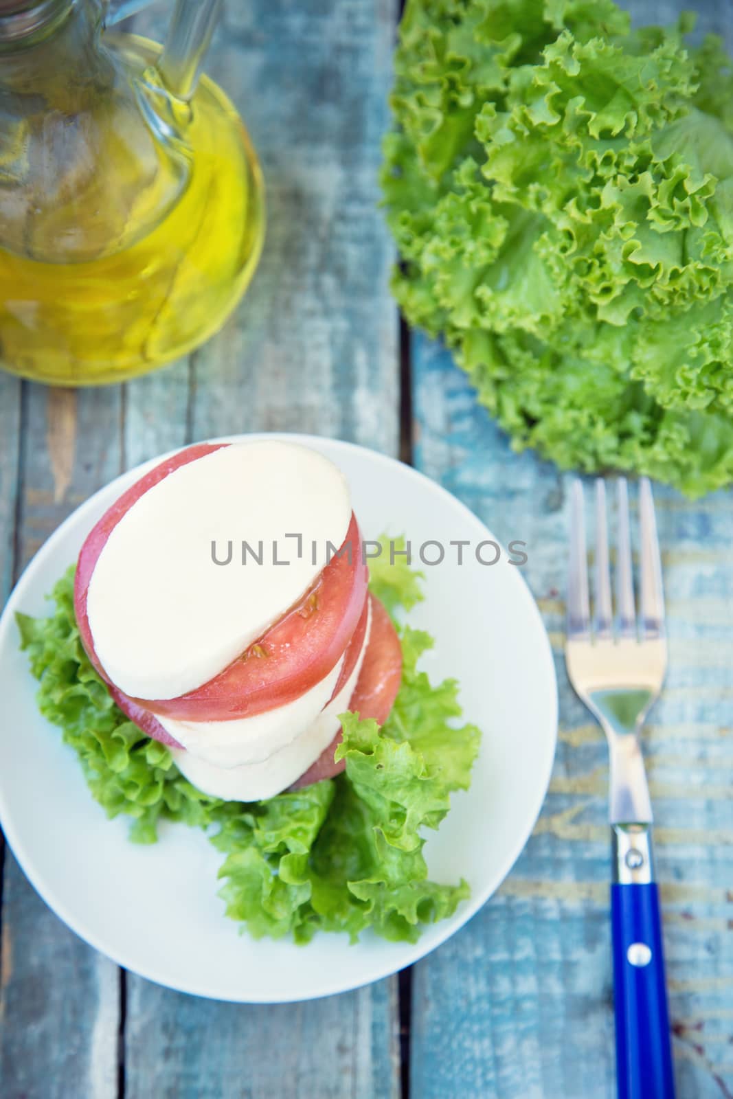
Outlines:
{"label": "caprese salad of stacked tomato and mozzarella with its lettuce bed", "polygon": [[158,463],[90,531],[55,610],[16,618],[41,712],[132,840],[206,829],[226,915],[255,936],[414,940],[468,896],[430,879],[423,833],[480,737],[456,680],[418,666],[421,598],[403,557],[367,569],[331,462],[259,439]]}

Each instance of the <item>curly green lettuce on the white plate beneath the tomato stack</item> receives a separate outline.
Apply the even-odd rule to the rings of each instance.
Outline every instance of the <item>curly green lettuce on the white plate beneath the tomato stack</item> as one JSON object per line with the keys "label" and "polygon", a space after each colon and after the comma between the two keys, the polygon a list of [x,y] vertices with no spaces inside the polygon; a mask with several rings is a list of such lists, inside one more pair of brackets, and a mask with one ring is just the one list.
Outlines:
{"label": "curly green lettuce on the white plate beneath the tomato stack", "polygon": [[[419,574],[389,542],[371,563],[371,590],[390,613],[422,598]],[[404,548],[395,540],[395,548]],[[367,928],[413,941],[427,922],[455,911],[465,881],[427,878],[422,830],[435,829],[449,795],[466,789],[479,732],[456,726],[457,685],[431,685],[418,670],[431,639],[401,630],[402,685],[380,729],[358,714],[342,717],[346,771],[303,790],[255,803],[223,801],[197,790],[163,744],[149,740],[114,706],[92,668],[74,617],[74,569],[53,591],[48,618],[18,615],[21,646],[40,680],[38,708],[63,731],[92,796],[108,817],[133,818],[131,839],[152,843],[160,820],[207,829],[222,853],[225,912],[255,937]]]}

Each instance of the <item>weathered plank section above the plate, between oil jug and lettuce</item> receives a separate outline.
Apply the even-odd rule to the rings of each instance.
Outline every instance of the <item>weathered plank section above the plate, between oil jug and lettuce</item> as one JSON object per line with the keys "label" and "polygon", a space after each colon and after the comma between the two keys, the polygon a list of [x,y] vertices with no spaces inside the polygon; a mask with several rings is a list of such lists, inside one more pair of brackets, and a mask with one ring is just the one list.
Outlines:
{"label": "weathered plank section above the plate, between oil jug and lettuce", "polygon": [[393,252],[377,209],[397,0],[229,3],[210,69],[259,153],[254,282],[196,356],[192,433],[289,430],[395,453]]}

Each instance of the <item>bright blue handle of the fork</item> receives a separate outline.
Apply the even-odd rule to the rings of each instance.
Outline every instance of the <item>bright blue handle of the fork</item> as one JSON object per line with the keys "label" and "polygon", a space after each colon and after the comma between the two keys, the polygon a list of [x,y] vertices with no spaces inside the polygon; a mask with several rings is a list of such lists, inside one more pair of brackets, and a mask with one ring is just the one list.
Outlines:
{"label": "bright blue handle of the fork", "polygon": [[611,886],[619,1099],[674,1099],[656,882]]}

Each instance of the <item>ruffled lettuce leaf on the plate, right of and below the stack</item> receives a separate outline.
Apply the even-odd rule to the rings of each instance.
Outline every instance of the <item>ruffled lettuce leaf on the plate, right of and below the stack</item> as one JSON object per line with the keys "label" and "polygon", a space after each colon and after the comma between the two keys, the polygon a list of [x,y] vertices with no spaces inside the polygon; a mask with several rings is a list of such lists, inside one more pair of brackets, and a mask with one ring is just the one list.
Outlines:
{"label": "ruffled lettuce leaf on the plate, right of and below the stack", "polygon": [[[393,568],[404,581],[407,566]],[[386,724],[344,714],[345,775],[262,802],[251,842],[237,839],[223,864],[227,914],[251,933],[308,942],[320,928],[355,940],[370,926],[414,941],[468,897],[465,881],[427,879],[422,829],[436,829],[449,793],[468,787],[480,733],[448,724],[460,715],[457,685],[433,687],[418,670],[431,639],[406,626],[401,640],[402,686]],[[225,851],[229,833],[214,841]]]}

